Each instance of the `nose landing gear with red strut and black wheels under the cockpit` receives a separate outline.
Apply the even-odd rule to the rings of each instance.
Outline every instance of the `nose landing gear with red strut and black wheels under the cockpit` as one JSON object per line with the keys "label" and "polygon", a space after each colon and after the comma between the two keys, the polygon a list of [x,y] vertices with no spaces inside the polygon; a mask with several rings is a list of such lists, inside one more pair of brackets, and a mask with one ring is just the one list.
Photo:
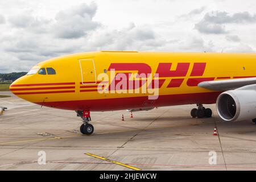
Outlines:
{"label": "nose landing gear with red strut and black wheels under the cockpit", "polygon": [[89,110],[77,110],[77,116],[82,118],[82,125],[80,126],[80,132],[85,135],[90,135],[94,131],[93,125],[89,124],[90,119],[90,111]]}

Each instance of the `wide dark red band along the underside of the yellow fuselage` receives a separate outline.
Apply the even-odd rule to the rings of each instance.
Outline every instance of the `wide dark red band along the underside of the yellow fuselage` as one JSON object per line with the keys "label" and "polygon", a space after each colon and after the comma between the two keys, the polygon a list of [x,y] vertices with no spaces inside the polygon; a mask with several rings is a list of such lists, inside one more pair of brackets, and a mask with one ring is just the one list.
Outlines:
{"label": "wide dark red band along the underside of the yellow fuselage", "polygon": [[[105,98],[98,100],[81,101],[59,101],[59,102],[39,102],[36,104],[56,107],[67,110],[108,111],[124,109],[140,109],[146,107],[161,107],[185,104],[214,104],[221,92],[208,93],[188,93],[159,96],[157,100],[148,100],[148,97],[125,97],[125,98]],[[155,101],[152,105],[145,105],[145,101]]]}

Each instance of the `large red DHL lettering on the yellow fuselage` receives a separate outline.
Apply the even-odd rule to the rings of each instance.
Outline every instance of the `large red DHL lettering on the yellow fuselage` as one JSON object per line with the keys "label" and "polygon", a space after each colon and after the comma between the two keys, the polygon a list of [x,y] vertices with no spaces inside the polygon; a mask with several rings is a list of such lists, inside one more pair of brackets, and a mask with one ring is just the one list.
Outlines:
{"label": "large red DHL lettering on the yellow fuselage", "polygon": [[[214,80],[214,78],[197,78],[196,76],[203,76],[206,63],[177,63],[177,67],[175,70],[171,70],[172,63],[159,63],[158,68],[156,69],[156,74],[158,74],[158,88],[161,88],[164,84],[164,81],[166,79],[159,79],[160,77],[185,77],[188,74],[189,66],[193,64],[192,71],[189,76],[192,78],[188,78],[187,85],[188,86],[197,86],[197,84],[200,81],[206,81],[206,80]],[[148,77],[152,72],[152,69],[150,65],[146,63],[112,63],[110,64],[108,71],[114,70],[115,72],[115,78],[109,85],[109,90],[113,90],[115,88],[120,88],[122,90],[126,89],[138,89],[141,88],[144,84],[146,84],[146,80],[130,80],[130,74],[131,73],[122,73],[120,71],[135,71],[138,73],[137,78],[144,78]],[[123,81],[120,79],[121,75],[126,75],[127,82],[125,85],[117,86],[118,84],[121,84]],[[153,78],[151,83],[148,85],[148,88],[156,88],[154,85],[155,79]],[[183,83],[184,78],[172,78],[170,82],[167,85],[167,88],[174,88],[174,87],[180,87],[180,85]]]}

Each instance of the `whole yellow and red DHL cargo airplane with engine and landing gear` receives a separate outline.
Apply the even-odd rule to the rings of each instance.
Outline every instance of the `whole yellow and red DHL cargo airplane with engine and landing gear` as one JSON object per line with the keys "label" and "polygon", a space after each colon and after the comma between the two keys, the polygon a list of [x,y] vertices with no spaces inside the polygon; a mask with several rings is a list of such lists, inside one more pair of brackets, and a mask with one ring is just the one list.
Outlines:
{"label": "whole yellow and red DHL cargo airplane with engine and landing gear", "polygon": [[93,133],[90,111],[185,104],[197,104],[193,118],[211,117],[203,104],[216,103],[225,121],[255,122],[255,66],[253,53],[86,52],[36,64],[10,90],[35,104],[76,111],[82,134]]}

